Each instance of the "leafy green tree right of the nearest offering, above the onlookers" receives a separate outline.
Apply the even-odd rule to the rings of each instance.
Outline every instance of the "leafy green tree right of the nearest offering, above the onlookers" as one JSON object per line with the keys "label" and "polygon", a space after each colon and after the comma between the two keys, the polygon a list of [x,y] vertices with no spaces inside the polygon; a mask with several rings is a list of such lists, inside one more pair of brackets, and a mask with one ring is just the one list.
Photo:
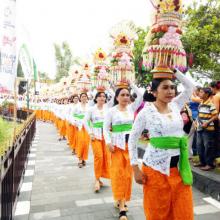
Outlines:
{"label": "leafy green tree right of the nearest offering, above the onlookers", "polygon": [[220,79],[220,1],[197,2],[186,11],[184,48],[193,53],[197,77]]}

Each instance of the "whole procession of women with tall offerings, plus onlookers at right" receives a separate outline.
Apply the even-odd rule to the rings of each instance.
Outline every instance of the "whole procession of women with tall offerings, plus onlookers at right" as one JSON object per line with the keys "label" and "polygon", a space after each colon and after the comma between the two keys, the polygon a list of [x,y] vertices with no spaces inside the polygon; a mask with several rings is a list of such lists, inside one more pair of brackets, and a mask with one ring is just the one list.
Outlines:
{"label": "whole procession of women with tall offerings, plus onlookers at right", "polygon": [[[215,167],[219,82],[198,88],[188,78],[180,38],[182,5],[173,12],[162,3],[143,51],[143,65],[153,75],[146,91],[135,81],[135,30],[122,23],[111,33],[109,56],[98,49],[93,70],[83,63],[31,105],[37,119],[54,124],[58,141],[66,140],[80,169],[86,168],[92,148],[94,192],[101,192],[102,178],[109,179],[120,220],[128,219],[133,178],[143,186],[147,220],[192,220],[189,160],[199,155],[195,166],[203,171]],[[181,92],[175,80],[182,84]],[[145,148],[141,164],[140,142]]]}

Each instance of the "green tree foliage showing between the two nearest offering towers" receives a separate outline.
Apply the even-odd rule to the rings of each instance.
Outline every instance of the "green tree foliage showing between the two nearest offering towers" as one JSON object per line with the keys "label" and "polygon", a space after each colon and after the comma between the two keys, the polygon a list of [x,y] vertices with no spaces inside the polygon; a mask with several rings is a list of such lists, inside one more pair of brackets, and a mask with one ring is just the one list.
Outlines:
{"label": "green tree foliage showing between the two nearest offering towers", "polygon": [[145,37],[148,33],[149,28],[143,29],[137,28],[137,40],[134,41],[134,65],[136,79],[140,86],[146,86],[152,80],[152,74],[150,74],[142,65],[142,53],[145,46]]}

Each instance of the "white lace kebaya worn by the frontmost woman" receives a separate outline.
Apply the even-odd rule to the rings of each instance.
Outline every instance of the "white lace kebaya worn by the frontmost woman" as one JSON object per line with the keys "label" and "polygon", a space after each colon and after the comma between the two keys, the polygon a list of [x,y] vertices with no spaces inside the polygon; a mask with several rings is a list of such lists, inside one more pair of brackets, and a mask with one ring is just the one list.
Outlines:
{"label": "white lace kebaya worn by the frontmost woman", "polygon": [[[147,103],[138,114],[129,137],[129,155],[131,164],[138,164],[137,143],[144,129],[149,130],[150,137],[182,137],[183,120],[180,111],[194,91],[194,84],[182,73],[177,72],[176,78],[183,84],[184,91],[175,97],[169,108],[171,113],[161,114],[153,103]],[[143,163],[163,174],[170,174],[171,157],[180,155],[179,149],[158,149],[148,144],[143,157]]]}

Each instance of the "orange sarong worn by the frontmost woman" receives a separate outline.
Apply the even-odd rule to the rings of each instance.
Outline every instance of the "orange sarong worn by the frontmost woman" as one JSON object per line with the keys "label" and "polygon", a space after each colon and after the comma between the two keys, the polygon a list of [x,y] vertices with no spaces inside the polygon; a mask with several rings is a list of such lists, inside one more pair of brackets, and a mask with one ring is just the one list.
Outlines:
{"label": "orange sarong worn by the frontmost woman", "polygon": [[170,176],[147,166],[142,171],[148,177],[143,185],[147,220],[193,220],[192,188],[183,184],[177,168]]}

